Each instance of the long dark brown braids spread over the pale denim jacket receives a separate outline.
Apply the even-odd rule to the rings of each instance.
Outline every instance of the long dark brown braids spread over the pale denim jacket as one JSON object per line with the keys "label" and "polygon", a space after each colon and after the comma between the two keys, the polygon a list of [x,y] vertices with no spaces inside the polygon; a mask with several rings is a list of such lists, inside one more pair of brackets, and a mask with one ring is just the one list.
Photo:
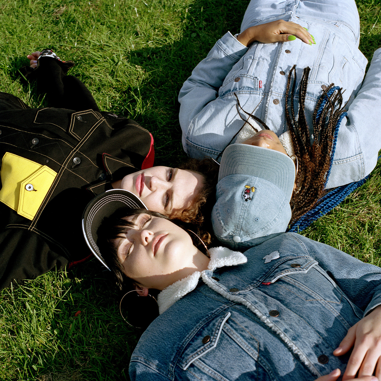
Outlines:
{"label": "long dark brown braids spread over the pale denim jacket", "polygon": [[[286,122],[288,130],[291,134],[294,152],[299,159],[299,170],[295,180],[296,189],[293,192],[290,201],[292,210],[291,222],[296,221],[298,218],[311,210],[319,203],[319,200],[325,194],[324,188],[327,184],[333,159],[332,146],[335,128],[339,119],[343,117],[343,112],[345,112],[345,106],[341,107],[343,104],[342,89],[333,89],[334,84],[331,83],[331,85],[327,88],[323,88],[323,96],[320,97],[315,107],[314,114],[312,115],[313,133],[311,134],[307,124],[306,115],[304,113],[307,82],[311,69],[306,67],[303,70],[303,77],[299,85],[298,120],[296,120],[294,108],[294,94],[296,87],[295,66],[296,65],[291,68],[287,78],[285,110]],[[293,82],[291,86],[292,77]],[[255,110],[251,113],[243,110],[240,106],[237,94],[234,93],[234,95],[237,98],[236,107],[238,114],[245,122],[243,126],[248,123],[256,132],[258,132],[258,130],[249,122],[249,119],[253,118],[257,122],[261,123],[266,130],[269,130],[266,123],[253,115]],[[240,110],[248,115],[246,119],[242,117]],[[237,134],[242,130],[242,128],[237,132]],[[234,135],[229,144],[233,141],[237,134]]]}

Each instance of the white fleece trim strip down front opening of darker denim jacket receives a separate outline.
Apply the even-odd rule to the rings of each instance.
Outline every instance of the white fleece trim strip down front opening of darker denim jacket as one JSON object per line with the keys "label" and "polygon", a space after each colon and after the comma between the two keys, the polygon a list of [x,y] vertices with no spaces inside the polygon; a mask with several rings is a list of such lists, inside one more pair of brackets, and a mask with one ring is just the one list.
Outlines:
{"label": "white fleece trim strip down front opening of darker denim jacket", "polygon": [[275,333],[279,335],[279,337],[284,341],[284,343],[291,349],[291,351],[293,351],[293,353],[298,355],[299,359],[314,375],[320,376],[319,371],[315,368],[314,364],[307,358],[307,356],[290,340],[290,338],[288,338],[288,336],[279,327],[277,327],[269,318],[263,315],[261,311],[256,309],[251,303],[249,303],[241,296],[232,295],[227,291],[224,291],[221,287],[215,285],[213,282],[210,281],[206,274],[202,274],[201,276],[205,284],[207,284],[212,290],[215,290],[216,292],[224,296],[226,299],[236,301],[237,303],[243,304],[248,309],[250,309],[250,311],[257,315],[259,319],[267,325],[267,327],[271,328]]}

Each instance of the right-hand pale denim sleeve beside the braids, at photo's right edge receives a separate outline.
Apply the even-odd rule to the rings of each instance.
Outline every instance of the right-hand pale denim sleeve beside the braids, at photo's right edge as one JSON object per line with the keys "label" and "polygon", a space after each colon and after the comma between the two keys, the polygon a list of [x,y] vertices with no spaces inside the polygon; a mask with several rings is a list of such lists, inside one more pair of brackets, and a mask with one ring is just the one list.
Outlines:
{"label": "right-hand pale denim sleeve beside the braids, at photo's right edge", "polygon": [[381,48],[341,122],[327,188],[359,181],[375,168],[381,149],[380,102]]}

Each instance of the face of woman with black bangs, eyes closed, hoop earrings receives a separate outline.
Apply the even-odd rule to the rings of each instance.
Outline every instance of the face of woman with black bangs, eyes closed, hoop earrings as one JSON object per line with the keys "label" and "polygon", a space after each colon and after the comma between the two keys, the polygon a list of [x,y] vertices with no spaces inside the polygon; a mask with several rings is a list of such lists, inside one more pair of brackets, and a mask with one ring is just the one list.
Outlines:
{"label": "face of woman with black bangs, eyes closed, hoop earrings", "polygon": [[123,272],[147,288],[163,290],[209,259],[197,250],[189,234],[171,221],[142,213],[125,218],[134,223],[114,240]]}

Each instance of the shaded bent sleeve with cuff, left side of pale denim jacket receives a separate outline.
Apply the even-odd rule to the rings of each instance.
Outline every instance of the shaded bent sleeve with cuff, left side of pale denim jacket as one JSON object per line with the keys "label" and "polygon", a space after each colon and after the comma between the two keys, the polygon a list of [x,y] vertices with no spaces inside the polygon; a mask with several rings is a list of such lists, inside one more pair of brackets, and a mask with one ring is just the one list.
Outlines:
{"label": "shaded bent sleeve with cuff, left side of pale denim jacket", "polygon": [[234,64],[247,52],[230,32],[220,38],[207,57],[192,71],[191,76],[184,82],[179,93],[179,120],[182,137],[187,134],[192,119],[210,101],[218,96],[218,89]]}

